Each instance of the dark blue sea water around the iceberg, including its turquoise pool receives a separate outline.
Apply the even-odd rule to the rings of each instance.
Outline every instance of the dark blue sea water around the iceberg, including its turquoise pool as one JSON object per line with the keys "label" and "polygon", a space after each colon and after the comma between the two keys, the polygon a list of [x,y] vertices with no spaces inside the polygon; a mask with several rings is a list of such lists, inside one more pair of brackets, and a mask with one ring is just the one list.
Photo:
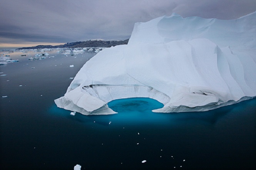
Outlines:
{"label": "dark blue sea water around the iceberg, including its turquoise pool", "polygon": [[153,99],[121,99],[109,103],[118,114],[71,116],[54,99],[94,53],[48,53],[10,54],[20,62],[0,67],[0,169],[256,168],[256,99],[171,114],[151,112],[162,107]]}

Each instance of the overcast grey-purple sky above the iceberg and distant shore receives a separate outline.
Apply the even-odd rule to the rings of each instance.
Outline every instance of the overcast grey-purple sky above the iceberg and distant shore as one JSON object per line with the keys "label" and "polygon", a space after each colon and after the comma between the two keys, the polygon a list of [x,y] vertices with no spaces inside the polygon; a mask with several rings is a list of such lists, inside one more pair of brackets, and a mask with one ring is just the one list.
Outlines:
{"label": "overcast grey-purple sky above the iceberg and distant shore", "polygon": [[256,0],[1,0],[0,46],[124,40],[134,23],[173,12],[236,19],[254,11]]}

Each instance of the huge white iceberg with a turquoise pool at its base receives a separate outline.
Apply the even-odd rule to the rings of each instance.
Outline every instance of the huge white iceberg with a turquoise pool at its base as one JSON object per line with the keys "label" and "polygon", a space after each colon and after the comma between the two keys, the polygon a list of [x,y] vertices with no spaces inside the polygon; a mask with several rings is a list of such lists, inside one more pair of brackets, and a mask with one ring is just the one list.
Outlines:
{"label": "huge white iceberg with a turquoise pool at its base", "polygon": [[256,12],[236,20],[172,14],[136,23],[128,45],[100,51],[58,107],[114,114],[107,103],[149,97],[154,112],[208,111],[256,96]]}

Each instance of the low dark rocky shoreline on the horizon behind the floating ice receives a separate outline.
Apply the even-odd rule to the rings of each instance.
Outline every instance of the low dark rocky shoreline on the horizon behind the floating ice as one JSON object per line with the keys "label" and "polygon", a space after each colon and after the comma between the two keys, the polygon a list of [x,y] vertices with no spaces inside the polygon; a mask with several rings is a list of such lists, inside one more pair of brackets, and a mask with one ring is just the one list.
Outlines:
{"label": "low dark rocky shoreline on the horizon behind the floating ice", "polygon": [[84,47],[111,47],[117,45],[127,44],[129,39],[121,41],[102,41],[102,40],[89,40],[89,41],[79,41],[74,43],[66,43],[64,45],[38,45],[33,47],[22,47],[16,50],[25,49],[42,49],[42,48],[84,48]]}

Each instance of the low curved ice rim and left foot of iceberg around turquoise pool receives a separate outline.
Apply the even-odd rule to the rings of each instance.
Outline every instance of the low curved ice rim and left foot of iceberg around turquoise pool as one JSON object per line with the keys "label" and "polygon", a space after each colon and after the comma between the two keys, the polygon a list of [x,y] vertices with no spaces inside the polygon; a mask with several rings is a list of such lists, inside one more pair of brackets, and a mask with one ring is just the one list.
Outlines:
{"label": "low curved ice rim and left foot of iceberg around turquoise pool", "polygon": [[[166,94],[152,87],[137,84],[91,84],[89,86],[81,86],[74,82],[70,84],[71,87],[75,87],[75,89],[71,89],[69,95],[56,99],[55,103],[58,107],[85,115],[115,114],[116,112],[112,111],[107,103],[116,99],[148,97],[164,105],[170,101],[170,97]],[[80,95],[77,96],[77,94]]]}

